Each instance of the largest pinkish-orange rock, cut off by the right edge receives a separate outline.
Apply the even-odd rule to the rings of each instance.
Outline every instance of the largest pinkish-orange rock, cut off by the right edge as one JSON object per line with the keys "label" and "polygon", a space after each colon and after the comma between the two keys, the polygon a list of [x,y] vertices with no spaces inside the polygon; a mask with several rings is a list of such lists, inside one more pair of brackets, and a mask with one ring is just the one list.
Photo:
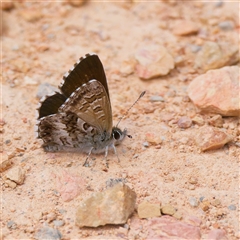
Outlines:
{"label": "largest pinkish-orange rock, cut off by the right edge", "polygon": [[238,66],[208,71],[189,84],[188,96],[203,111],[239,116],[239,71]]}

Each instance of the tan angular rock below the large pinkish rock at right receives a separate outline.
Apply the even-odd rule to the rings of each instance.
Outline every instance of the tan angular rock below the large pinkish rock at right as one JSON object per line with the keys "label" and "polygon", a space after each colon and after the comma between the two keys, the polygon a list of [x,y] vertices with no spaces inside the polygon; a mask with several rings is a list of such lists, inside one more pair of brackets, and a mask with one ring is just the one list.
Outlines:
{"label": "tan angular rock below the large pinkish rock at right", "polygon": [[218,128],[203,127],[199,129],[196,143],[202,151],[214,150],[223,147],[233,140],[233,137]]}

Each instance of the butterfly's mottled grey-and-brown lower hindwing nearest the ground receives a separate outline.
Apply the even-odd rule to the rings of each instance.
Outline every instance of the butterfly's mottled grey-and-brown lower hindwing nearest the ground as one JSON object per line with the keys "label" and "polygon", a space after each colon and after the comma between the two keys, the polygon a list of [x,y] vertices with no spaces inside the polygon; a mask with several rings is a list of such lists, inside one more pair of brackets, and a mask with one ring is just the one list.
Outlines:
{"label": "butterfly's mottled grey-and-brown lower hindwing nearest the ground", "polygon": [[79,119],[74,113],[57,113],[43,117],[38,122],[38,138],[44,142],[45,151],[70,150],[89,152],[97,130]]}

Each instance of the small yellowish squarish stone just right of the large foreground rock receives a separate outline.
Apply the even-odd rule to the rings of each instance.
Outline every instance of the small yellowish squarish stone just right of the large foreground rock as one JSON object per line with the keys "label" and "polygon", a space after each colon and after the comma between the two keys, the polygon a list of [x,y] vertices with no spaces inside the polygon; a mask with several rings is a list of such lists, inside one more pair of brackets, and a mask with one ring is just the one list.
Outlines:
{"label": "small yellowish squarish stone just right of the large foreground rock", "polygon": [[160,204],[142,202],[138,205],[139,218],[152,218],[161,216]]}

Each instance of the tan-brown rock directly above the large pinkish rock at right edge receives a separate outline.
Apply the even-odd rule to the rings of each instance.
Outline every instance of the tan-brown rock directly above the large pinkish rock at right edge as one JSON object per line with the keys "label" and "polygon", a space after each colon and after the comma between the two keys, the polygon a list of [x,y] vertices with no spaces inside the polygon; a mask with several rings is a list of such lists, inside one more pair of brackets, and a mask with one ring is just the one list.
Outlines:
{"label": "tan-brown rock directly above the large pinkish rock at right edge", "polygon": [[226,43],[206,42],[196,56],[194,68],[206,72],[238,61],[238,47]]}

